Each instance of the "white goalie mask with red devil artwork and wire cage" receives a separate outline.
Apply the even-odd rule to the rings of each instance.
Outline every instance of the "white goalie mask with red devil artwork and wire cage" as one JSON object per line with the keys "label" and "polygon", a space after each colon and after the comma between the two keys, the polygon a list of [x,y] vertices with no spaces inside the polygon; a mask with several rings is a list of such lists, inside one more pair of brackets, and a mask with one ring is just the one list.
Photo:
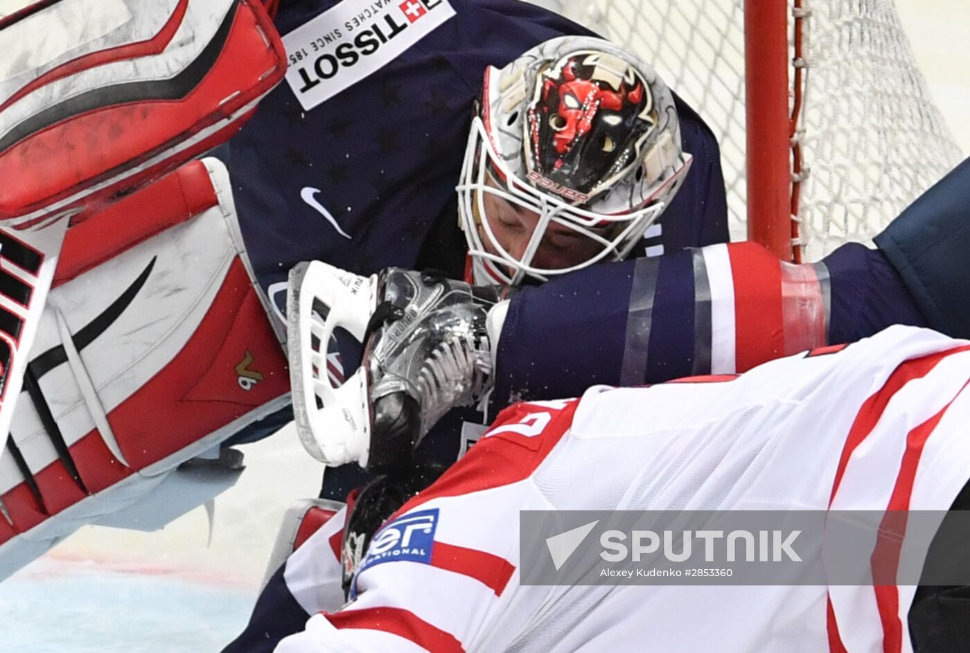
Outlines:
{"label": "white goalie mask with red devil artwork and wire cage", "polygon": [[[623,48],[561,37],[502,69],[490,66],[457,187],[474,283],[544,281],[623,260],[673,199],[691,161],[663,80]],[[497,200],[532,216],[532,233],[516,248],[502,242]],[[551,232],[581,242],[559,264],[536,256]]]}

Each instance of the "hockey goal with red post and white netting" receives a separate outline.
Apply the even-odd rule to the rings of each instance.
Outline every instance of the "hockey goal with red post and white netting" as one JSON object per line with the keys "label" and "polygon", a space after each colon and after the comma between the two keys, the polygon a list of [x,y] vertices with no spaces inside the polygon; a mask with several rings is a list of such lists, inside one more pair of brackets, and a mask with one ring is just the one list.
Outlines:
{"label": "hockey goal with red post and white netting", "polygon": [[891,0],[533,0],[651,61],[721,145],[731,237],[815,261],[959,162]]}

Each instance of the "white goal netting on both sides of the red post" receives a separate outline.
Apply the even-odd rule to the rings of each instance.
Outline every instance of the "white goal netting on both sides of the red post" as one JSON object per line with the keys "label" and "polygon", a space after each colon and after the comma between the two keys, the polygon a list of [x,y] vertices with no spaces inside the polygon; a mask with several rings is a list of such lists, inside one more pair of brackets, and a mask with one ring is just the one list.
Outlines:
{"label": "white goal netting on both sides of the red post", "polygon": [[[558,0],[536,0],[558,5]],[[563,0],[566,16],[631,47],[717,136],[731,237],[746,237],[744,0]],[[867,241],[959,161],[891,0],[805,3],[809,169],[805,260]],[[790,28],[790,32],[791,32]],[[791,36],[791,34],[790,34]]]}

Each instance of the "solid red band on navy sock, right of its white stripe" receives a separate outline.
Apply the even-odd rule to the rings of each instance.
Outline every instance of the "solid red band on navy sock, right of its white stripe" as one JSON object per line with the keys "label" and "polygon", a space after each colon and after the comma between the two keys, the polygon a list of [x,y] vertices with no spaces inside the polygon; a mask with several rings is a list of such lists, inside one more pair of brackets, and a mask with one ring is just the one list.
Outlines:
{"label": "solid red band on navy sock, right of its white stripe", "polygon": [[727,247],[734,281],[734,361],[738,372],[785,356],[782,272],[757,243]]}

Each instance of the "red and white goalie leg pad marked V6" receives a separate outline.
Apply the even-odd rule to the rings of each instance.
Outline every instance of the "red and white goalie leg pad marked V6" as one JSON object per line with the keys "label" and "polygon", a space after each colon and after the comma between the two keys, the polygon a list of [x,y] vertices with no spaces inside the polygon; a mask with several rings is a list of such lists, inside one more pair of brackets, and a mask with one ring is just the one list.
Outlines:
{"label": "red and white goalie leg pad marked V6", "polygon": [[240,469],[220,443],[289,419],[247,265],[214,159],[68,231],[0,457],[0,578],[83,524],[160,527],[204,503]]}

